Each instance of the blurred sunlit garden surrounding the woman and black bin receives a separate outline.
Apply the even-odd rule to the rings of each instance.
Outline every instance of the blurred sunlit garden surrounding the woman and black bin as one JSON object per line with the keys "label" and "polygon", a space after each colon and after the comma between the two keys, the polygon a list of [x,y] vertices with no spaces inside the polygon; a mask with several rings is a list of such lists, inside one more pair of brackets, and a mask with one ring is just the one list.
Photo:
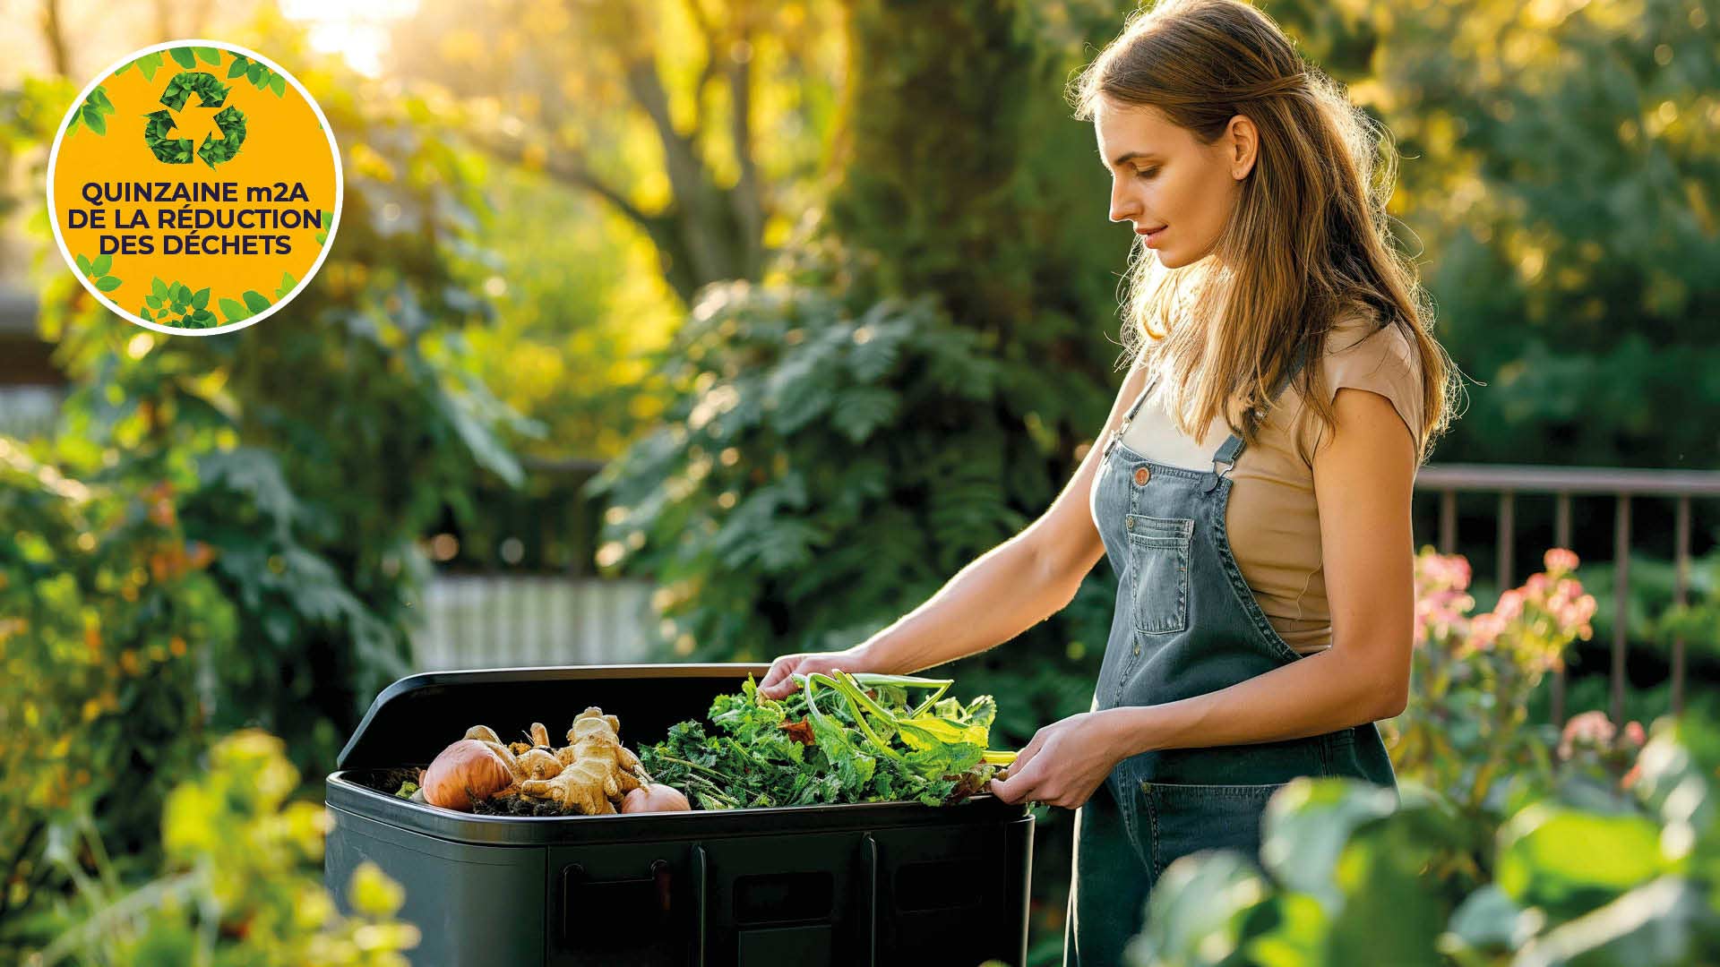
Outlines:
{"label": "blurred sunlit garden surrounding the woman and black bin", "polygon": [[[1321,793],[1287,822],[1336,831],[1326,881],[1166,912],[1144,943],[1342,964],[1391,900],[1419,912],[1405,964],[1694,964],[1715,809],[1668,790],[1720,761],[1720,5],[1264,9],[1404,155],[1393,229],[1467,377],[1422,473],[1667,490],[1622,530],[1625,487],[1417,490],[1417,544],[1476,563],[1422,556],[1416,695],[1383,723],[1436,805]],[[353,919],[322,893],[322,778],[445,642],[466,664],[846,647],[1042,513],[1121,380],[1132,237],[1063,84],[1127,10],[0,2],[0,952],[389,962],[399,884],[359,884]],[[124,325],[43,212],[83,84],[175,38],[289,67],[342,151],[330,258],[232,336]],[[1555,545],[1581,588],[1557,557],[1502,594]],[[939,669],[998,695],[994,745],[1087,709],[1115,587],[1096,568]],[[526,635],[547,650],[509,650]],[[1056,964],[1070,816],[1041,819],[1030,962]],[[1643,862],[1567,869],[1570,843]],[[1651,952],[1593,939],[1644,903],[1624,936]]]}

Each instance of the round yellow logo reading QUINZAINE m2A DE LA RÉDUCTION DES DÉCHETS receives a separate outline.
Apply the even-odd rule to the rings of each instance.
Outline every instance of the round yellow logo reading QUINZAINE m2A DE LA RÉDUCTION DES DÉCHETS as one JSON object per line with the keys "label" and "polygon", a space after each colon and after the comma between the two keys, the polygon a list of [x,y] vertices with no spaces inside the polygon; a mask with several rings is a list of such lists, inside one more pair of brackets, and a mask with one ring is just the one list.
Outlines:
{"label": "round yellow logo reading QUINZAINE m2A DE LA R\u00c9DUCTION DES D\u00c9CHETS", "polygon": [[129,53],[71,105],[48,158],[65,263],[115,313],[213,336],[280,310],[341,220],[329,119],[279,64],[181,40]]}

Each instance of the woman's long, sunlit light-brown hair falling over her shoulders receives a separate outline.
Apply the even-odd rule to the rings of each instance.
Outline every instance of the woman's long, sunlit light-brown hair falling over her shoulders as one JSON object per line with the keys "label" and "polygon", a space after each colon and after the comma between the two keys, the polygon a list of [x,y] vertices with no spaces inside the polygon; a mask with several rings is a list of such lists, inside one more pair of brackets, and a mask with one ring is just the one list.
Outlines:
{"label": "woman's long, sunlit light-brown hair falling over her shoulders", "polygon": [[1176,427],[1199,442],[1223,415],[1252,444],[1250,411],[1264,411],[1305,348],[1295,385],[1333,430],[1336,411],[1314,361],[1333,325],[1361,313],[1376,329],[1400,327],[1421,358],[1416,459],[1424,463],[1460,384],[1429,334],[1433,303],[1414,262],[1390,244],[1390,131],[1240,0],[1161,0],[1133,10],[1072,79],[1068,96],[1080,120],[1094,117],[1099,98],[1158,108],[1202,145],[1214,145],[1237,114],[1259,131],[1254,169],[1209,258],[1164,268],[1139,237],[1130,253],[1123,344],[1130,360],[1144,353],[1161,366]]}

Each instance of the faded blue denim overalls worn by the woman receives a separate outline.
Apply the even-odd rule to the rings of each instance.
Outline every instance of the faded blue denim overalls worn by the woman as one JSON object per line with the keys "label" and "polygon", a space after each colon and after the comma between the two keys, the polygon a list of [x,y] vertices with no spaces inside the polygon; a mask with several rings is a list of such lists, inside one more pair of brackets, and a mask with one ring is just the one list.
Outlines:
{"label": "faded blue denim overalls worn by the woman", "polygon": [[[1300,366],[1299,354],[1268,406]],[[1149,382],[1106,442],[1092,494],[1099,537],[1121,575],[1094,709],[1204,695],[1302,657],[1268,623],[1225,535],[1226,473],[1242,454],[1242,437],[1230,434],[1213,470],[1154,463],[1121,444],[1151,392]],[[1232,847],[1259,864],[1266,800],[1297,776],[1352,776],[1397,790],[1374,723],[1285,742],[1161,748],[1118,762],[1075,814],[1065,967],[1120,965],[1171,860]]]}

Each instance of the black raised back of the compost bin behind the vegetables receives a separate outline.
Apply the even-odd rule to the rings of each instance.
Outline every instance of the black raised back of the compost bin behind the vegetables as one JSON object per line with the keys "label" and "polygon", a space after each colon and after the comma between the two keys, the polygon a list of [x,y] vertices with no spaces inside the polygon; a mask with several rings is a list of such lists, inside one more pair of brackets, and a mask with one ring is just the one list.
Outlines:
{"label": "black raised back of the compost bin behind the vegetables", "polygon": [[425,671],[394,681],[370,704],[337,769],[427,766],[475,724],[502,742],[544,723],[559,738],[590,705],[621,721],[630,748],[662,740],[669,726],[705,719],[710,700],[769,664],[588,664]]}

